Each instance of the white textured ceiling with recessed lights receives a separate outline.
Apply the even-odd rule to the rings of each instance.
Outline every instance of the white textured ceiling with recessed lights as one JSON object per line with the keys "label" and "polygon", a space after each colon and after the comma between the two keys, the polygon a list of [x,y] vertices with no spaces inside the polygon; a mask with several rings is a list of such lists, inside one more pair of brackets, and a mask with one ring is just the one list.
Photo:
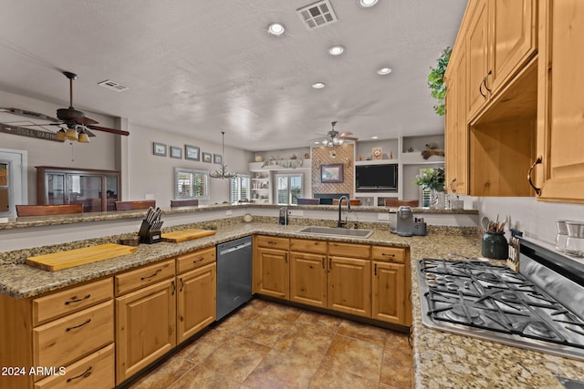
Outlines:
{"label": "white textured ceiling with recessed lights", "polygon": [[[68,107],[68,70],[74,106],[129,118],[130,137],[131,124],[217,143],[225,131],[250,151],[310,146],[332,120],[361,140],[443,131],[426,77],[466,0],[330,0],[339,21],[308,30],[296,10],[311,3],[3,0],[0,89]],[[284,36],[266,33],[274,21]],[[336,44],[345,53],[329,56]]]}

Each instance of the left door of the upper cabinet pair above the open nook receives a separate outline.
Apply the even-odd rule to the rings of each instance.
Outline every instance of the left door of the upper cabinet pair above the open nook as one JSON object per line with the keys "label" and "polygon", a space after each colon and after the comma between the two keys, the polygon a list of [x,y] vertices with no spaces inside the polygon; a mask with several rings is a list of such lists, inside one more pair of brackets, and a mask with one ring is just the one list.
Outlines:
{"label": "left door of the upper cabinet pair above the open nook", "polygon": [[474,14],[467,31],[468,53],[468,118],[472,118],[487,98],[486,76],[488,73],[488,6],[485,0],[476,1]]}

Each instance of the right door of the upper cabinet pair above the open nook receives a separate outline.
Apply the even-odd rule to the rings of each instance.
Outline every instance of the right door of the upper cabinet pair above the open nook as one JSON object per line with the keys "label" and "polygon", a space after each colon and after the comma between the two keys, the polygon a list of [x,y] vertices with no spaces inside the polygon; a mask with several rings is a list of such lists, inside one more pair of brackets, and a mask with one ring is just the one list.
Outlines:
{"label": "right door of the upper cabinet pair above the open nook", "polygon": [[537,50],[535,0],[489,1],[491,19],[489,88],[495,94]]}

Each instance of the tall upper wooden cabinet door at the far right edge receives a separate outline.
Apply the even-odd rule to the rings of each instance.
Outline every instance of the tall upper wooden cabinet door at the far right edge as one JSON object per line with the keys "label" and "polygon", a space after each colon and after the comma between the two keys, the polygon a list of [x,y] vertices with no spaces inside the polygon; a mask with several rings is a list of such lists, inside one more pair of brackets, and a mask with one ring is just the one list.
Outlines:
{"label": "tall upper wooden cabinet door at the far right edge", "polygon": [[[584,2],[541,2],[547,34],[539,55],[537,155],[542,200],[584,201]],[[553,47],[553,49],[552,49]],[[543,86],[543,87],[542,87]],[[538,170],[540,172],[541,170]],[[541,183],[539,184],[541,186]]]}

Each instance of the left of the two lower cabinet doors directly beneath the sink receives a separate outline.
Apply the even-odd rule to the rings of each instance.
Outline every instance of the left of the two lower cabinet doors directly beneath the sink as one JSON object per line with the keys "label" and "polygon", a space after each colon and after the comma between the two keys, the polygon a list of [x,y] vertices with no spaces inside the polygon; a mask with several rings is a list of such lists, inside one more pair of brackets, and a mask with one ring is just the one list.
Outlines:
{"label": "left of the two lower cabinet doors directly beneath the sink", "polygon": [[290,301],[327,308],[327,257],[290,252]]}

